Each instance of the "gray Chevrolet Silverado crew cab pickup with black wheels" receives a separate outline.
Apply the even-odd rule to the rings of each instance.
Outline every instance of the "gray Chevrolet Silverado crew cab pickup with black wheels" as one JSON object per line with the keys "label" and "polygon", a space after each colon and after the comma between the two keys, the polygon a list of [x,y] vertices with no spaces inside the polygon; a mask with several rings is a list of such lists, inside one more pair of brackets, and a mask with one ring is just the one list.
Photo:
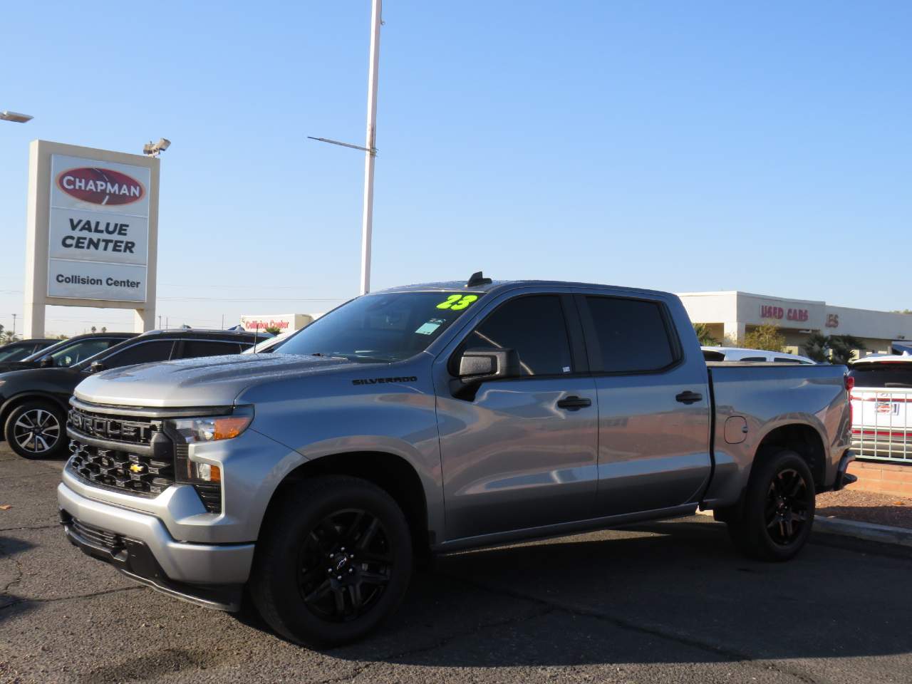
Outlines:
{"label": "gray Chevrolet Silverado crew cab pickup with black wheels", "polygon": [[416,556],[711,509],[785,560],[852,479],[845,368],[704,361],[678,297],[549,282],[365,295],[273,353],[82,382],[69,540],[202,606],[330,646]]}

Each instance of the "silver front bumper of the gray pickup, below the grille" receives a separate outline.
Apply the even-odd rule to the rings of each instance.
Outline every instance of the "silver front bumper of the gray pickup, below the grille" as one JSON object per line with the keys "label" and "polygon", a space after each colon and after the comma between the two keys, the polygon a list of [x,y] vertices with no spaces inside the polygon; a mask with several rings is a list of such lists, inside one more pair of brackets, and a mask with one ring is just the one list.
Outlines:
{"label": "silver front bumper of the gray pickup, below the grille", "polygon": [[192,544],[154,515],[88,499],[57,485],[60,522],[84,553],[131,578],[201,606],[238,610],[254,544]]}

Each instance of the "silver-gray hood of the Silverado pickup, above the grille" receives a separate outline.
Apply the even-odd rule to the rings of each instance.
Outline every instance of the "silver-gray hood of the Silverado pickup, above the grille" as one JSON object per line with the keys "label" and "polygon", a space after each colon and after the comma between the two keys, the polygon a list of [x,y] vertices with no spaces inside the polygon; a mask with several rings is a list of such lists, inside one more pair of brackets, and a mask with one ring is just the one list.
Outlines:
{"label": "silver-gray hood of the Silverado pickup, above the grille", "polygon": [[354,364],[342,358],[235,354],[112,368],[83,380],[77,399],[149,408],[231,406],[244,389]]}

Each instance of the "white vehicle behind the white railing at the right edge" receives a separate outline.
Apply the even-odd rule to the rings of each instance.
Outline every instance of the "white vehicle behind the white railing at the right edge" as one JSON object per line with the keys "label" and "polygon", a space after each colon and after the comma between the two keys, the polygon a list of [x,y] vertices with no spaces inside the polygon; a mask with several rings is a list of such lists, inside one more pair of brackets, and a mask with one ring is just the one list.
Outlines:
{"label": "white vehicle behind the white railing at the right edge", "polygon": [[878,354],[849,368],[855,455],[912,463],[912,354]]}

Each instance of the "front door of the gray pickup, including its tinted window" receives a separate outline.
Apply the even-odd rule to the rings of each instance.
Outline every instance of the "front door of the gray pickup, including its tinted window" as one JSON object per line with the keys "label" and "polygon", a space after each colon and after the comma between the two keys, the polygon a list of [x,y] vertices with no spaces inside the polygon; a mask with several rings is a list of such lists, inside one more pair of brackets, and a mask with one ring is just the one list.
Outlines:
{"label": "front door of the gray pickup, including its tinted window", "polygon": [[[595,505],[596,384],[572,295],[492,305],[435,362],[448,541],[581,520]],[[514,349],[519,375],[461,394],[452,364],[480,347]]]}

